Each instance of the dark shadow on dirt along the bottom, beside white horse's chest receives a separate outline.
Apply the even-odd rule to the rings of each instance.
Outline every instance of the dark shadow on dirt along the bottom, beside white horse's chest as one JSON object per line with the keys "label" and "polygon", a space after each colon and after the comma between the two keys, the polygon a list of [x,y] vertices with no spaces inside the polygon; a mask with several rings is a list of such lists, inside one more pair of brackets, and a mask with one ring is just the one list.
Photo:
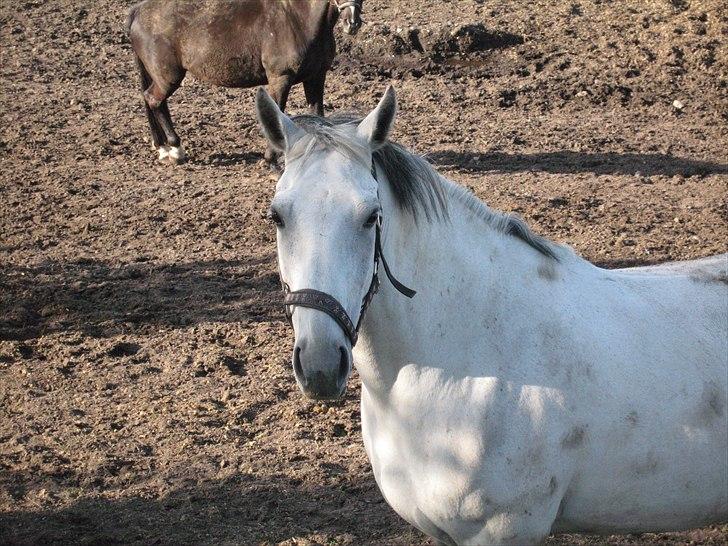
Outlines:
{"label": "dark shadow on dirt along the bottom, beside white horse's chest", "polygon": [[[23,481],[23,476],[15,478]],[[403,536],[427,543],[383,502],[372,477],[335,479],[339,487],[283,475],[241,473],[220,481],[188,477],[156,498],[86,497],[62,508],[10,510],[0,513],[0,543],[277,544],[298,543],[314,533],[346,535],[356,544]],[[367,525],[361,525],[362,518]]]}

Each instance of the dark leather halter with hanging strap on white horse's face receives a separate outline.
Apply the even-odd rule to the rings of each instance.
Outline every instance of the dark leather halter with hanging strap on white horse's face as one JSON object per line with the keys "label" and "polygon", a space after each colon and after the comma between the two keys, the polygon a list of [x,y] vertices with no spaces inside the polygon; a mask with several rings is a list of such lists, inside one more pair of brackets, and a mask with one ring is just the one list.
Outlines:
{"label": "dark leather halter with hanging strap on white horse's face", "polygon": [[[373,162],[372,176],[374,177],[374,180],[377,180],[377,171],[374,167]],[[372,282],[369,284],[369,290],[367,290],[367,293],[362,299],[361,310],[359,311],[359,320],[356,323],[356,326],[354,326],[354,322],[349,317],[349,314],[346,312],[346,309],[344,309],[344,306],[341,305],[334,296],[327,294],[326,292],[314,290],[313,288],[304,288],[302,290],[296,290],[294,292],[291,292],[290,287],[281,277],[281,285],[283,286],[284,294],[283,304],[285,305],[286,317],[288,317],[289,322],[291,321],[291,318],[293,316],[293,307],[295,306],[318,309],[319,311],[323,311],[324,313],[329,315],[332,319],[336,321],[339,326],[341,326],[341,329],[344,330],[346,337],[349,338],[351,346],[354,347],[357,340],[359,339],[359,328],[361,327],[364,313],[369,307],[369,304],[372,302],[374,294],[376,294],[379,290],[380,261],[384,266],[384,273],[387,275],[389,282],[392,283],[392,286],[394,286],[394,288],[398,292],[407,296],[408,298],[413,297],[417,293],[411,288],[407,288],[405,285],[399,282],[389,270],[387,260],[384,259],[384,254],[382,253],[382,215],[380,214],[377,217],[376,234],[374,236],[374,273],[372,274]]]}

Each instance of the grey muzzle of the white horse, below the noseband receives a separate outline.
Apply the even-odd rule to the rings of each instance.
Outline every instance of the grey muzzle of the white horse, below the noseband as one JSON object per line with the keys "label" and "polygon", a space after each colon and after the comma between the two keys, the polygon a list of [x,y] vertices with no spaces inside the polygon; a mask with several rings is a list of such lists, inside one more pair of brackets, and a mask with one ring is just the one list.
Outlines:
{"label": "grey muzzle of the white horse, below the noseband", "polygon": [[337,400],[346,391],[351,351],[346,347],[296,344],[293,372],[303,394],[314,400]]}

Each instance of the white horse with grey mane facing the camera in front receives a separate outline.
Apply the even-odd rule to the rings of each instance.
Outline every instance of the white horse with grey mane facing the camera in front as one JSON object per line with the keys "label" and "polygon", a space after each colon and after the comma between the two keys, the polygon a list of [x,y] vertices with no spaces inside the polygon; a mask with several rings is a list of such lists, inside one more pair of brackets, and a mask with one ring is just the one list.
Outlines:
{"label": "white horse with grey mane facing the camera in front", "polygon": [[[361,122],[257,113],[296,379],[342,394],[371,301],[362,431],[399,515],[445,544],[728,519],[728,255],[595,267],[388,142],[391,88]],[[413,298],[371,297],[383,257]]]}

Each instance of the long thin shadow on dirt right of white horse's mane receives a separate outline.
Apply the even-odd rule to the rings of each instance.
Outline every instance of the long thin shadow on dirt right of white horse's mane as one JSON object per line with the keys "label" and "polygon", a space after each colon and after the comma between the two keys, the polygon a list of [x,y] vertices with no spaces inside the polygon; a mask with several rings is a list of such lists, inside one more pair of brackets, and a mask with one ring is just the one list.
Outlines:
{"label": "long thin shadow on dirt right of white horse's mane", "polygon": [[642,176],[707,176],[728,174],[728,163],[714,163],[658,153],[584,153],[541,152],[518,154],[505,152],[455,152],[443,150],[427,155],[440,167],[465,172],[543,171],[553,174],[623,174]]}

